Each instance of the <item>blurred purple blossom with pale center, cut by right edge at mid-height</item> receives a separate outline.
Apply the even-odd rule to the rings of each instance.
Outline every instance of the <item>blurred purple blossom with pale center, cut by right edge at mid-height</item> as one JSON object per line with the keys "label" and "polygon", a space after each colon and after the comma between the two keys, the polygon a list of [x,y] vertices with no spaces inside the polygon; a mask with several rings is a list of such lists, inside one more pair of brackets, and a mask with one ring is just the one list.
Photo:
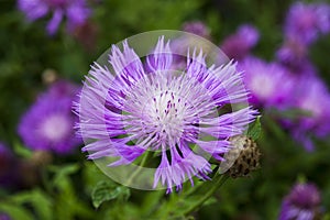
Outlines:
{"label": "blurred purple blossom with pale center, cut by right edge at mid-height", "polygon": [[301,76],[295,85],[295,108],[308,112],[293,123],[293,135],[311,151],[311,136],[324,138],[330,134],[330,94],[316,76]]}

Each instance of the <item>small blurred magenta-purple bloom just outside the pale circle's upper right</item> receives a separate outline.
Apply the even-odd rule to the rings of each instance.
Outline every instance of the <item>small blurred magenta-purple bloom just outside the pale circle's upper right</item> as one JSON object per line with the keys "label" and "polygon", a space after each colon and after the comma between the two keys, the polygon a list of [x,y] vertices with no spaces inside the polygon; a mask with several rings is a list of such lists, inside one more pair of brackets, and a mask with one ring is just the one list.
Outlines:
{"label": "small blurred magenta-purple bloom just outside the pale circle's upper right", "polygon": [[258,41],[258,31],[250,24],[241,25],[238,31],[228,36],[221,44],[227,56],[234,59],[244,58]]}

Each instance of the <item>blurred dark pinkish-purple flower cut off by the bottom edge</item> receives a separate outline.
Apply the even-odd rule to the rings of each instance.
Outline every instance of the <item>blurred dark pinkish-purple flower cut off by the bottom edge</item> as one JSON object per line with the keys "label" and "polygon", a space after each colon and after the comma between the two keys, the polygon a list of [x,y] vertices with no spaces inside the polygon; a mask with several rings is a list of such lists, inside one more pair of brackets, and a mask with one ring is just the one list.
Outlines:
{"label": "blurred dark pinkish-purple flower cut off by the bottom edge", "polygon": [[320,193],[314,184],[297,184],[282,204],[279,220],[314,220],[320,209]]}

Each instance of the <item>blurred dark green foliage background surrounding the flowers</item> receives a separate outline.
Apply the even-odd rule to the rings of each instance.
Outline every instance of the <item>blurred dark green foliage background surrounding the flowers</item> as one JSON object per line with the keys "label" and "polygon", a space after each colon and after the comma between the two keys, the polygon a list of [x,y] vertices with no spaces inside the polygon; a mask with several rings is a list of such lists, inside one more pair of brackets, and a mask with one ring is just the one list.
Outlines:
{"label": "blurred dark green foliage background surrounding the flowers", "polygon": [[[272,61],[283,42],[283,23],[294,1],[263,0],[100,0],[89,1],[92,15],[86,29],[67,34],[64,24],[54,36],[45,32],[47,19],[29,23],[13,0],[0,1],[0,140],[16,156],[29,162],[16,133],[22,113],[44,91],[45,73],[80,84],[96,61],[111,44],[151,30],[180,30],[188,21],[202,21],[219,45],[240,24],[260,31],[253,54]],[[330,82],[330,36],[311,46],[310,57],[324,81]],[[330,107],[329,107],[330,108]],[[308,153],[274,120],[263,116],[258,140],[262,168],[251,177],[230,179],[209,205],[191,216],[196,219],[276,219],[282,198],[297,180],[310,180],[322,193],[322,206],[330,207],[330,140],[316,140]],[[163,191],[131,189],[130,198],[113,199],[95,209],[92,189],[100,180],[111,182],[77,148],[70,156],[54,156],[36,170],[35,184],[2,189],[0,210],[15,212],[16,219],[147,219]],[[35,170],[33,170],[33,174]],[[127,189],[119,187],[125,197]],[[116,197],[117,198],[117,197]],[[165,197],[166,199],[167,197]],[[156,207],[156,208],[155,208]],[[191,218],[193,218],[191,217]]]}

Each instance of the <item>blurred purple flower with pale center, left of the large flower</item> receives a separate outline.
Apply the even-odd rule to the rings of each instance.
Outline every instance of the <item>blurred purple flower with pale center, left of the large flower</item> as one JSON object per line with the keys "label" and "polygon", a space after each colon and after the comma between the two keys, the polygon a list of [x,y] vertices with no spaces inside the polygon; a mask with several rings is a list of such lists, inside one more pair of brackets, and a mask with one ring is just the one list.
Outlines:
{"label": "blurred purple flower with pale center, left of the large flower", "polygon": [[81,143],[73,129],[77,117],[72,112],[78,87],[67,81],[55,82],[47,92],[24,113],[19,134],[33,150],[69,153]]}

